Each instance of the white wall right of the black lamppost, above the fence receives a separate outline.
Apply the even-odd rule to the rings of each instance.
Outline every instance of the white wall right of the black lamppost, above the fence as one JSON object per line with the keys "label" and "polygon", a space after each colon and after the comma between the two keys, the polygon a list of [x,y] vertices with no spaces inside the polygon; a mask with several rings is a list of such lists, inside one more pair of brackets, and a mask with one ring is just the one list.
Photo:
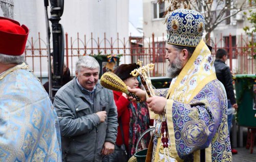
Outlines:
{"label": "white wall right of the black lamppost, above the fence", "polygon": [[61,17],[65,32],[76,36],[76,33],[106,38],[127,37],[129,34],[129,0],[73,0],[65,1],[65,10]]}

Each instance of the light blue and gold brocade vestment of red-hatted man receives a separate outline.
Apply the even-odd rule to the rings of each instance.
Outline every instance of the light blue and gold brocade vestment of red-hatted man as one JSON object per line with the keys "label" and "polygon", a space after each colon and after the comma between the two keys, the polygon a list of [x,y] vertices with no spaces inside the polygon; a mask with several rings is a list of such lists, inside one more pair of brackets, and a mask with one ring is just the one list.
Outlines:
{"label": "light blue and gold brocade vestment of red-hatted man", "polygon": [[38,79],[24,67],[0,75],[0,161],[61,161],[56,112]]}

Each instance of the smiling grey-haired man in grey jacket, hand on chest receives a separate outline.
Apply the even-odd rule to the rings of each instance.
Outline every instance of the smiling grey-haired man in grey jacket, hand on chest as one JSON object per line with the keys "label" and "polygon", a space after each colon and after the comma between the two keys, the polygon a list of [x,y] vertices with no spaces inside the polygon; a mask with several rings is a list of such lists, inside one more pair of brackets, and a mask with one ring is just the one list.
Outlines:
{"label": "smiling grey-haired man in grey jacket, hand on chest", "polygon": [[113,92],[99,83],[99,67],[93,57],[80,57],[76,77],[55,95],[63,161],[101,161],[114,151],[117,109]]}

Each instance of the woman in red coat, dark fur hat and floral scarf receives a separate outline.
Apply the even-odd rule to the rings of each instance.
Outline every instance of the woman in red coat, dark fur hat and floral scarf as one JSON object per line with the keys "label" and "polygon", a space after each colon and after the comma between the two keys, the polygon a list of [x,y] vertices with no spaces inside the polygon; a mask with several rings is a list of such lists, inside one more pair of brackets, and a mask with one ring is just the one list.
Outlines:
{"label": "woman in red coat, dark fur hat and floral scarf", "polygon": [[[126,86],[139,88],[137,77],[130,73],[137,68],[136,64],[122,64],[116,70],[115,74],[119,76]],[[150,127],[150,116],[146,102],[135,103],[127,99],[125,93],[114,92],[114,99],[118,113],[118,131],[116,144],[123,144],[120,123],[122,124],[124,134],[124,144],[129,157],[135,154],[136,144],[140,135]],[[145,149],[150,142],[150,134],[146,134],[138,145],[138,149]]]}

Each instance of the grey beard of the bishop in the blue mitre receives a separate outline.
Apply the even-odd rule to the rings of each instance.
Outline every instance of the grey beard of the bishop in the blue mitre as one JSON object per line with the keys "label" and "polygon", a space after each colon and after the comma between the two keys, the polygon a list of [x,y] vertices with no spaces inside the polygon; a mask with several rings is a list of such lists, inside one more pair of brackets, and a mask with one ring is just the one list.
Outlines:
{"label": "grey beard of the bishop in the blue mitre", "polygon": [[167,77],[175,78],[182,70],[182,62],[177,56],[174,62],[170,63],[167,69]]}

